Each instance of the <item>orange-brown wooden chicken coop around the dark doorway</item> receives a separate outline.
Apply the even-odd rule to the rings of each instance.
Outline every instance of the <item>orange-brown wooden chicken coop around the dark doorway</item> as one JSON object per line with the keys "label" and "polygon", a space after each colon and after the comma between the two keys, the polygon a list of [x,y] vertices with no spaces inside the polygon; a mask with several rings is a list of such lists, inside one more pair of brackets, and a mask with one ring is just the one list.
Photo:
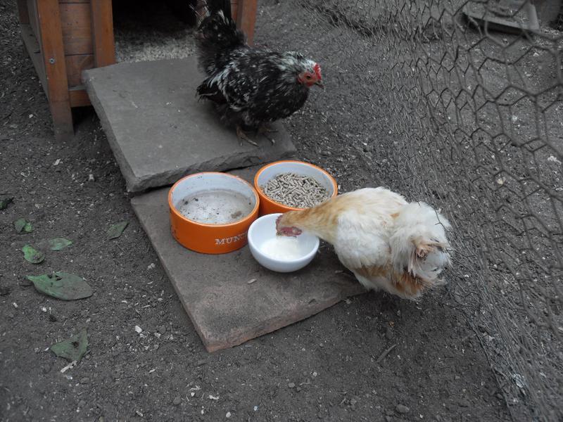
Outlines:
{"label": "orange-brown wooden chicken coop around the dark doorway", "polygon": [[[256,2],[231,1],[249,43]],[[90,105],[82,70],[115,63],[112,0],[18,0],[18,12],[23,43],[48,98],[55,135],[69,139],[74,135],[72,108]]]}

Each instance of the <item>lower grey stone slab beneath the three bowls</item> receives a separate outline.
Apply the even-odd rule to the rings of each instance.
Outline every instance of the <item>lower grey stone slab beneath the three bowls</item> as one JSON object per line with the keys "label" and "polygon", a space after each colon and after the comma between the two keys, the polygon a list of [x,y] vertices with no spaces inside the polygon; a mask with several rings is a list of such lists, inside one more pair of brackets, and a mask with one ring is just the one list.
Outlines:
{"label": "lower grey stone slab beneath the three bowls", "polygon": [[[235,172],[251,180],[255,169]],[[293,324],[365,290],[346,274],[331,246],[320,248],[304,269],[289,274],[258,264],[248,245],[224,255],[204,255],[179,245],[170,233],[168,188],[132,198],[166,274],[209,352]],[[254,283],[248,284],[251,279]]]}

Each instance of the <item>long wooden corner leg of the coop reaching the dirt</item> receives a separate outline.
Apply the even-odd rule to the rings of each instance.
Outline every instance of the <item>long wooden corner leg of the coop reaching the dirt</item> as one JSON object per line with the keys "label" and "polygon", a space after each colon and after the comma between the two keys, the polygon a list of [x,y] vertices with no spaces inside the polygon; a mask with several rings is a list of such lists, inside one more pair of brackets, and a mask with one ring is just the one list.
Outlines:
{"label": "long wooden corner leg of the coop reaching the dirt", "polygon": [[61,11],[57,0],[39,0],[39,45],[45,67],[49,108],[57,139],[72,138],[72,113],[68,96]]}

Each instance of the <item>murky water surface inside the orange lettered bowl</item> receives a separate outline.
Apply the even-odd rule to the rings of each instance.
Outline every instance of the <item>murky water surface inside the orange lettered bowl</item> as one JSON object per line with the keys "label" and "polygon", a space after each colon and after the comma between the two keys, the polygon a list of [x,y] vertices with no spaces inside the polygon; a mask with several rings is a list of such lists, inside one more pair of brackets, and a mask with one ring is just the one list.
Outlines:
{"label": "murky water surface inside the orange lettered bowl", "polygon": [[250,198],[229,189],[192,193],[177,204],[180,214],[203,224],[234,223],[249,215],[253,207]]}

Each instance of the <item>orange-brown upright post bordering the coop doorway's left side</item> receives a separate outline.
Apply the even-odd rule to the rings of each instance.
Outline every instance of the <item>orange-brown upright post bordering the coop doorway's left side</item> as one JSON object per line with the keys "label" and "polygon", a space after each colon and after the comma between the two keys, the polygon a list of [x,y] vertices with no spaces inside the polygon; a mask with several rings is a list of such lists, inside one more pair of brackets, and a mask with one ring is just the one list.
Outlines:
{"label": "orange-brown upright post bordering the coop doorway's left side", "polygon": [[113,65],[115,63],[115,43],[111,0],[92,0],[90,6],[94,65],[96,68]]}

